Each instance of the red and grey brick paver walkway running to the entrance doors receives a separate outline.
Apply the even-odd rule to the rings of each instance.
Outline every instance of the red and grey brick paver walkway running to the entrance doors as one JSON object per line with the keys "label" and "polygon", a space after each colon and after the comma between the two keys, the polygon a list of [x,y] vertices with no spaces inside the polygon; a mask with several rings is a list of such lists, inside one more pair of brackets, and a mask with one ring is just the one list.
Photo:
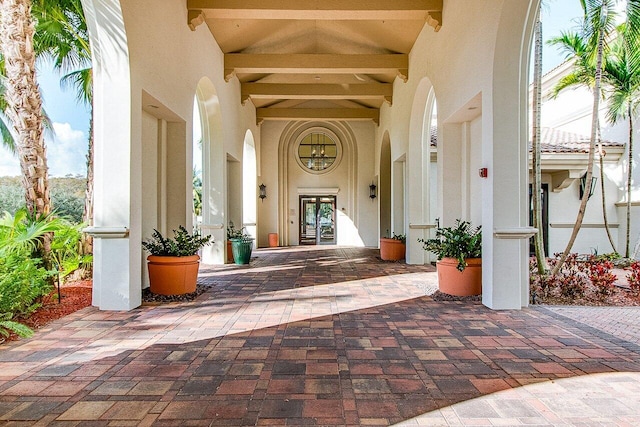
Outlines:
{"label": "red and grey brick paver walkway running to the entrance doors", "polygon": [[640,425],[637,344],[551,308],[434,301],[431,267],[376,255],[259,250],[203,268],[194,302],[89,308],[0,346],[0,424]]}

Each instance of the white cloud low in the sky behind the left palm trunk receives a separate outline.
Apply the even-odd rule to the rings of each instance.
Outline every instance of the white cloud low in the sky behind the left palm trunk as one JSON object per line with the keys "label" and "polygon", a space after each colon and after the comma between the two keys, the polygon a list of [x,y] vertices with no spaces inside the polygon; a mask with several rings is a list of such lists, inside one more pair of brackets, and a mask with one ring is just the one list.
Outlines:
{"label": "white cloud low in the sky behind the left palm trunk", "polygon": [[[69,123],[53,123],[53,132],[45,133],[49,176],[87,174],[87,136]],[[0,176],[20,175],[18,158],[0,148]]]}

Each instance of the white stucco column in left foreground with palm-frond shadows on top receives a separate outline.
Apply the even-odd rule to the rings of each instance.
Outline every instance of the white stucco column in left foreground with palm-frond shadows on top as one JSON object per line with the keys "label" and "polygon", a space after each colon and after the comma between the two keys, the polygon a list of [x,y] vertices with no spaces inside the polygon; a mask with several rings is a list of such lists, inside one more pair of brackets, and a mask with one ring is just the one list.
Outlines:
{"label": "white stucco column in left foreground with palm-frond shadows on top", "polygon": [[[82,0],[93,54],[94,240],[93,305],[131,310],[141,304],[141,236],[133,189],[131,81],[127,36],[118,0]],[[137,173],[133,173],[138,170]],[[139,211],[139,209],[138,209]]]}

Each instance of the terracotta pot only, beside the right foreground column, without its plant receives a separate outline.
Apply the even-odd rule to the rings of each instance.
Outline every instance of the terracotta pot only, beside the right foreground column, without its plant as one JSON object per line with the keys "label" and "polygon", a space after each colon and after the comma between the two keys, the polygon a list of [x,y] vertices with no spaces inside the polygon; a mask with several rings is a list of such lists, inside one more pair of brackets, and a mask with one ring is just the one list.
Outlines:
{"label": "terracotta pot only, beside the right foreground column, without its plant", "polygon": [[436,263],[440,292],[459,297],[482,293],[482,258],[468,258],[467,268],[459,271],[458,260],[443,258]]}

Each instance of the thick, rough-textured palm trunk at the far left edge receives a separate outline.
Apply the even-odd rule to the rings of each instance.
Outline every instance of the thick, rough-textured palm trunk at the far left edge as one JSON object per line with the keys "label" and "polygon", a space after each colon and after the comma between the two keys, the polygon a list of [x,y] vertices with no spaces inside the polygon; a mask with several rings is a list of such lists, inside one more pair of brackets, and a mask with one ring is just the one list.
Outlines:
{"label": "thick, rough-textured palm trunk at the far left edge", "polygon": [[[44,143],[42,98],[36,81],[34,24],[30,0],[0,1],[0,52],[5,61],[4,110],[15,131],[27,209],[46,216],[51,210]],[[45,253],[48,252],[45,239]]]}

